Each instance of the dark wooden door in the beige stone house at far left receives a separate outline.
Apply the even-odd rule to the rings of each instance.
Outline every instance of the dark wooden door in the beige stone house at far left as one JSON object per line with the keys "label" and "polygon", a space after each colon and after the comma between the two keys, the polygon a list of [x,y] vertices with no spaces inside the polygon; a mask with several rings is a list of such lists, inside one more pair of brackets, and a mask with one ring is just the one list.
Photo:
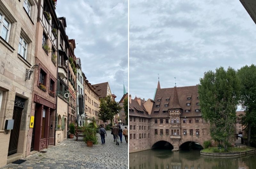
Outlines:
{"label": "dark wooden door in the beige stone house at far left", "polygon": [[22,108],[14,106],[13,117],[12,117],[12,119],[14,119],[14,124],[13,124],[13,129],[11,130],[11,135],[10,135],[8,155],[17,153],[19,134],[20,134],[21,113],[22,113]]}

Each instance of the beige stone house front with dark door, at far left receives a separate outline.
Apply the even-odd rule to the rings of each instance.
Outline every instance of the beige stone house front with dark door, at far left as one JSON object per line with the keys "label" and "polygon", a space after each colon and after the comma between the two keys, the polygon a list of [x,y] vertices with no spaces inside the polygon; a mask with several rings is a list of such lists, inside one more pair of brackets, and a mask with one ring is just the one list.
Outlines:
{"label": "beige stone house front with dark door, at far left", "polygon": [[[34,75],[25,79],[35,65],[36,4],[0,0],[0,167],[26,156]],[[12,119],[14,129],[5,129]]]}

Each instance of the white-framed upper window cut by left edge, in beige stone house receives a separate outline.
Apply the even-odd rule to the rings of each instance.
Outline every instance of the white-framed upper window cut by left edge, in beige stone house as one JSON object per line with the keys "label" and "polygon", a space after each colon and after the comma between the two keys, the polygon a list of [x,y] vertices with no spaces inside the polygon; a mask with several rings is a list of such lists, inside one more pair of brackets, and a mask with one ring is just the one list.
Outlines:
{"label": "white-framed upper window cut by left edge, in beige stone house", "polygon": [[10,35],[11,23],[0,12],[0,36],[8,42]]}

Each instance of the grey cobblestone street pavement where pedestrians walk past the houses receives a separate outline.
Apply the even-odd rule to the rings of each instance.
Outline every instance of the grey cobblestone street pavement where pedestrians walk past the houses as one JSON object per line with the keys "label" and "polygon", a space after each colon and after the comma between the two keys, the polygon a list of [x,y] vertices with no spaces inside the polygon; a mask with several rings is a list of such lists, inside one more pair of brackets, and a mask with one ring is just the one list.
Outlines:
{"label": "grey cobblestone street pavement where pedestrians walk past the houses", "polygon": [[[125,126],[122,126],[124,128]],[[21,164],[9,164],[3,168],[128,168],[128,144],[123,136],[123,143],[116,145],[111,131],[107,131],[105,145],[101,144],[100,135],[98,135],[99,144],[87,147],[83,137],[66,139],[61,143],[66,145],[52,146],[46,153],[36,152],[25,159],[27,161]],[[42,158],[39,161],[39,158]],[[36,160],[33,160],[36,159]]]}

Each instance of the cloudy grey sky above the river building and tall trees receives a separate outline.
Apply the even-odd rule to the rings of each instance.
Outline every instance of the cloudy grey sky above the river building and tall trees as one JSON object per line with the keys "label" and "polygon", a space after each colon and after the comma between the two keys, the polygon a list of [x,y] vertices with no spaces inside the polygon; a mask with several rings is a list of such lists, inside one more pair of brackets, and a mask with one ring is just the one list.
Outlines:
{"label": "cloudy grey sky above the river building and tall trees", "polygon": [[130,0],[130,94],[199,84],[220,66],[255,64],[256,25],[239,0]]}

